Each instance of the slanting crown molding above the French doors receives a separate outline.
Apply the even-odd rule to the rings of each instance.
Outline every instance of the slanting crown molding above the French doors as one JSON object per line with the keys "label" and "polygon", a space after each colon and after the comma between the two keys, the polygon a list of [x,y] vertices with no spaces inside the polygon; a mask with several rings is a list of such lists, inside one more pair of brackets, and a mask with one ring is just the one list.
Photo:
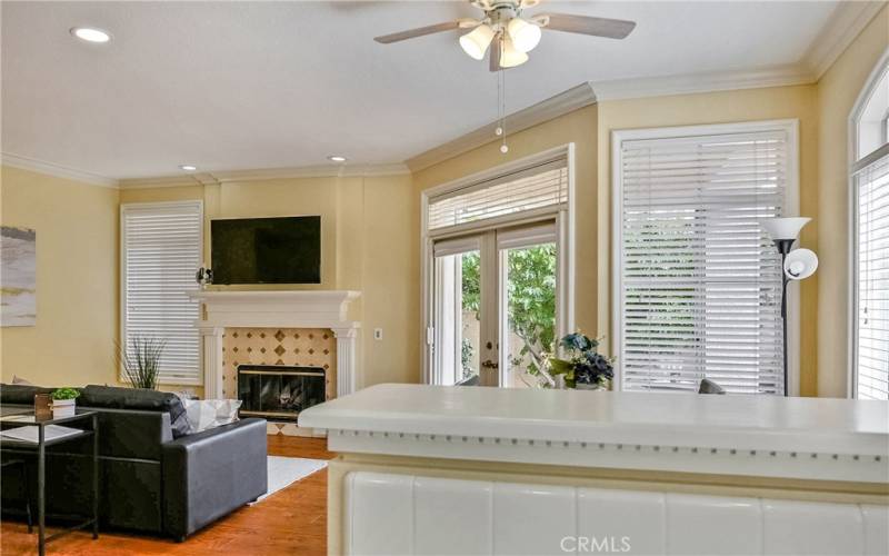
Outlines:
{"label": "slanting crown molding above the French doors", "polygon": [[[592,86],[589,82],[585,82],[507,116],[505,127],[510,133],[518,133],[519,131],[558,118],[559,116],[593,105],[596,100],[597,97],[596,92],[592,90]],[[487,145],[497,140],[495,129],[498,123],[499,122],[495,121],[482,126],[465,136],[429,149],[426,152],[416,155],[406,160],[404,163],[410,168],[410,171],[416,172],[458,155],[462,155],[463,152],[468,152],[482,145]]]}

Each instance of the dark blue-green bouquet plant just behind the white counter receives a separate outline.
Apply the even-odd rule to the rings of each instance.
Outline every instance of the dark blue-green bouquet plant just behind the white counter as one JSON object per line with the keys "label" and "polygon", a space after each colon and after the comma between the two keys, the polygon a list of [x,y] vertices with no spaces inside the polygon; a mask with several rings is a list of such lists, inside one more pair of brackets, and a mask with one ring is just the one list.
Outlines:
{"label": "dark blue-green bouquet plant just behind the white counter", "polygon": [[549,357],[549,374],[562,376],[565,386],[582,390],[607,388],[615,377],[613,359],[599,354],[599,341],[580,334],[569,334],[559,340],[566,358]]}

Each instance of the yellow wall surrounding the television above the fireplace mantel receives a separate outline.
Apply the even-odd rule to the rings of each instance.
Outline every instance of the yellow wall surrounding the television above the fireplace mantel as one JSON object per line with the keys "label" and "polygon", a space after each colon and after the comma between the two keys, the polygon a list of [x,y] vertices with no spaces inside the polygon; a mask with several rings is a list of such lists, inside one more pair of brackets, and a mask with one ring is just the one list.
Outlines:
{"label": "yellow wall surrounding the television above the fireplace mantel", "polygon": [[[419,290],[410,176],[274,179],[211,186],[124,189],[122,203],[202,199],[206,238],[212,218],[321,216],[321,284],[214,286],[213,289],[353,289],[350,318],[362,321],[363,384],[417,381]],[[210,260],[204,241],[204,260]],[[383,339],[373,339],[373,328]]]}

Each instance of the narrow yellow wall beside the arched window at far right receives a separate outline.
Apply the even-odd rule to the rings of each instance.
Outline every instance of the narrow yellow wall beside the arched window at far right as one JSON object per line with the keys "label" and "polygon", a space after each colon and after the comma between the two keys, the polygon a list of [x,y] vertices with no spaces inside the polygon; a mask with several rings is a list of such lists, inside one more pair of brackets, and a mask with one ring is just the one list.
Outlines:
{"label": "narrow yellow wall beside the arched window at far right", "polygon": [[849,290],[849,115],[889,48],[889,8],[868,24],[818,83],[819,189],[818,393],[847,395]]}

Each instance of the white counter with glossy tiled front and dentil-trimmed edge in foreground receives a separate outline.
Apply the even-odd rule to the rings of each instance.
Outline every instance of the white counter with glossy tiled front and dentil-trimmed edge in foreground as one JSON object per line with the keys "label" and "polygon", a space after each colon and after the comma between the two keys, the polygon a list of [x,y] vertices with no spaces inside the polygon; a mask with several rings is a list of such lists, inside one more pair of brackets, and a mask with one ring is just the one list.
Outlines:
{"label": "white counter with glossy tiled front and dentil-trimmed edge in foreground", "polygon": [[885,401],[379,385],[299,424],[331,555],[889,554]]}

